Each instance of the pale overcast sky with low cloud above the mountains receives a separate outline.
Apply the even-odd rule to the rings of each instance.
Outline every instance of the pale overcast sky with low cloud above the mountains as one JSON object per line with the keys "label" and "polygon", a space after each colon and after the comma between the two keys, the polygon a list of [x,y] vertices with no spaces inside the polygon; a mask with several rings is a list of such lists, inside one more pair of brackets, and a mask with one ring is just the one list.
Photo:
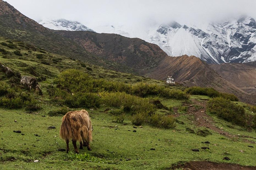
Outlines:
{"label": "pale overcast sky with low cloud above the mountains", "polygon": [[102,24],[206,22],[249,15],[256,19],[256,0],[4,0],[29,18],[67,19],[87,27]]}

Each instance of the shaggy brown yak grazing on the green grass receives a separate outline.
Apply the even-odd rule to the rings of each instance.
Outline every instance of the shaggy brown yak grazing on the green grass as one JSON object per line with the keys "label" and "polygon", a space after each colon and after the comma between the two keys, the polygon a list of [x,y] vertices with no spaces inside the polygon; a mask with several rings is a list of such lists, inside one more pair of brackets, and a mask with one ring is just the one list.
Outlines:
{"label": "shaggy brown yak grazing on the green grass", "polygon": [[87,111],[72,111],[66,113],[62,118],[62,124],[60,128],[60,137],[66,140],[67,153],[69,151],[68,142],[72,139],[75,152],[78,153],[76,141],[80,142],[80,148],[87,146],[90,148],[90,141],[92,141],[92,123]]}

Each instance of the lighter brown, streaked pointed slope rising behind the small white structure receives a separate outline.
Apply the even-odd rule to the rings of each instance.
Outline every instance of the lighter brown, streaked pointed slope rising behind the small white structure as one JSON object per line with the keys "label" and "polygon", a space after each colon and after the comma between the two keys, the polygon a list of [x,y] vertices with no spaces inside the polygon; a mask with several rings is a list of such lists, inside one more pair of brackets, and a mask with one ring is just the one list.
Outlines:
{"label": "lighter brown, streaked pointed slope rising behind the small white structure", "polygon": [[185,86],[212,87],[222,92],[235,94],[243,101],[252,103],[247,100],[246,92],[223,79],[208,64],[195,56],[166,57],[151,73],[147,74],[150,78],[160,80],[165,80],[169,75]]}

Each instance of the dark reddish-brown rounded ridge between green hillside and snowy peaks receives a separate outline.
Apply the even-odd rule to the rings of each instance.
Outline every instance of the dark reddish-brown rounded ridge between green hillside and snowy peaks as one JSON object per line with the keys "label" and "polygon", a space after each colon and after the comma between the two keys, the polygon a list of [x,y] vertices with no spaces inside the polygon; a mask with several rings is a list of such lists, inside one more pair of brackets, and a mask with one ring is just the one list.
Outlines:
{"label": "dark reddish-brown rounded ridge between green hillside and snowy peaks", "polygon": [[141,75],[167,57],[160,47],[139,38],[90,31],[55,31],[55,33],[75,41],[88,52],[105,60],[132,67]]}

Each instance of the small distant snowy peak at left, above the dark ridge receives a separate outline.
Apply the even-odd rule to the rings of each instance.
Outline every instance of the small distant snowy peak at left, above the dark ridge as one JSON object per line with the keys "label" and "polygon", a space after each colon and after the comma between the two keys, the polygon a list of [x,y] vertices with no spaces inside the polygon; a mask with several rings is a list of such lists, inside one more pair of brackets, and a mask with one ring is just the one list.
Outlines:
{"label": "small distant snowy peak at left, above the dark ridge", "polygon": [[[39,22],[46,28],[50,28],[53,30],[66,30],[66,31],[93,31],[92,29],[86,27],[80,22],[77,21],[69,21],[65,19],[59,20],[43,20]],[[95,32],[95,31],[93,31]]]}

